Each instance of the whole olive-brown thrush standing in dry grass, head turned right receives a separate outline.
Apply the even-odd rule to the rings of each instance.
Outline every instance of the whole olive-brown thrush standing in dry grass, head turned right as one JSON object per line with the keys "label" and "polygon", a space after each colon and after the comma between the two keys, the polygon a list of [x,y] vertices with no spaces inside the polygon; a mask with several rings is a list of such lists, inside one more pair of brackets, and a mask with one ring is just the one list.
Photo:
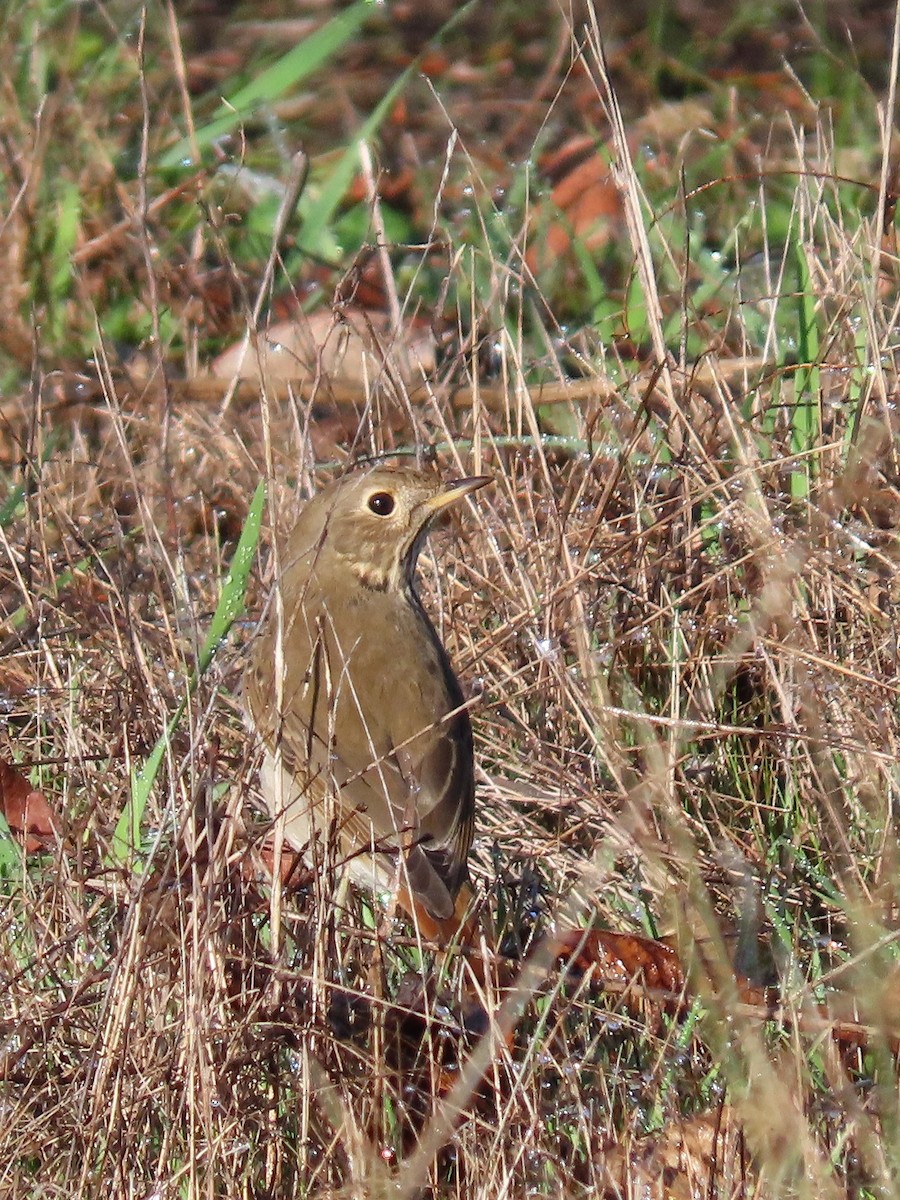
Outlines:
{"label": "whole olive-brown thrush standing in dry grass, head turned right", "polygon": [[284,546],[282,612],[272,606],[245,685],[287,842],[320,860],[317,836],[335,828],[352,877],[377,893],[396,882],[403,906],[432,918],[428,936],[451,928],[467,878],[474,764],[415,564],[434,517],[490,481],[378,466],[313,497]]}

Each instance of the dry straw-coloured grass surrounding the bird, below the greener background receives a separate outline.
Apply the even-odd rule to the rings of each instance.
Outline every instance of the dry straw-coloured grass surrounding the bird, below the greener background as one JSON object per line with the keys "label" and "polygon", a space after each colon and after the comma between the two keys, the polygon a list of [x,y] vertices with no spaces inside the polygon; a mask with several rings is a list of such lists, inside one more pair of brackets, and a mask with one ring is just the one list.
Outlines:
{"label": "dry straw-coloured grass surrounding the bird, below the greener background", "polygon": [[[584,65],[614,116],[595,30]],[[895,260],[842,210],[820,132],[798,132],[792,162],[805,310],[767,246],[774,300],[736,301],[701,364],[581,354],[606,398],[569,406],[546,439],[526,383],[539,292],[515,252],[481,260],[475,325],[506,403],[473,388],[461,408],[440,382],[394,376],[332,442],[341,462],[350,443],[437,444],[446,475],[496,478],[421,574],[476,697],[473,874],[504,946],[539,946],[506,1007],[490,997],[516,1022],[509,1042],[464,1028],[458,958],[438,979],[414,931],[377,937],[360,898],[318,878],[272,901],[238,698],[268,535],[250,616],[167,749],[140,866],[110,865],[131,772],[185,695],[259,475],[274,523],[334,463],[316,461],[308,389],[223,410],[107,376],[106,403],[61,408],[36,346],[34,386],[20,377],[2,403],[8,478],[26,484],[1,532],[2,755],[32,770],[64,838],[2,883],[0,1195],[894,1194]],[[42,169],[23,110],[5,137]],[[700,324],[696,276],[648,220],[622,134],[616,150],[636,276],[650,298],[660,264],[684,281],[648,304],[659,350],[673,304]],[[138,226],[136,263],[154,238]],[[455,258],[460,295],[473,262]],[[103,302],[95,283],[77,272],[60,306],[73,329]],[[160,326],[152,288],[145,301]],[[815,379],[779,353],[804,312]],[[762,346],[748,313],[769,323]],[[22,338],[4,347],[30,358]],[[478,378],[476,354],[449,371]],[[539,944],[559,922],[671,934],[703,962],[702,1003],[672,1016],[560,979]],[[734,966],[778,978],[776,1021],[739,1003]],[[822,1006],[863,1044],[833,1039]],[[467,1074],[479,1054],[486,1069]],[[457,1064],[460,1112],[440,1099]]]}

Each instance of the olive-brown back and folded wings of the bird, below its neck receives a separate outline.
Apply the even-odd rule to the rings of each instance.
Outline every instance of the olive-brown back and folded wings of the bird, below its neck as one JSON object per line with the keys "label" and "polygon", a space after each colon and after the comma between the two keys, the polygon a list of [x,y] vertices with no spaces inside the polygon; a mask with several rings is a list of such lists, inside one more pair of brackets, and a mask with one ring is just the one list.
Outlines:
{"label": "olive-brown back and folded wings of the bird, below its neck", "polygon": [[[337,616],[337,619],[335,619]],[[472,728],[443,647],[415,614],[408,636],[425,635],[428,670],[409,672],[394,638],[342,635],[359,624],[302,616],[283,632],[292,664],[281,713],[274,680],[275,632],[257,648],[247,707],[268,748],[281,750],[298,786],[286,835],[301,846],[330,793],[341,810],[343,844],[404,854],[409,887],[433,917],[449,917],[466,878],[473,836]],[[422,614],[424,616],[424,614]],[[305,664],[305,666],[304,666]],[[302,812],[300,805],[302,804]],[[293,834],[296,833],[296,836]],[[298,846],[300,848],[300,846]]]}

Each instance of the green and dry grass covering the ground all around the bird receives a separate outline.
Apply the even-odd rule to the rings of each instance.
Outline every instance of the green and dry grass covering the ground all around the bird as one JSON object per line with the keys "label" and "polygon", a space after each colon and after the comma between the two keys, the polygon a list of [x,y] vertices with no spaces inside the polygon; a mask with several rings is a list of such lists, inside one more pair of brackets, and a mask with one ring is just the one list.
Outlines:
{"label": "green and dry grass covering the ground all around the bird", "polygon": [[[536,0],[475,7],[427,48],[443,71],[376,13],[361,43],[325,26],[305,77],[296,26],[235,19],[210,46],[156,11],[0,18],[0,754],[65,826],[42,856],[0,844],[0,1194],[898,1192],[886,80],[864,29],[848,67],[834,10],[817,29],[781,6],[809,91],[754,85],[748,12],[679,62],[662,6],[646,34],[610,17],[605,54]],[[245,125],[214,151],[222,95]],[[557,220],[535,162],[584,127],[622,215],[533,271]],[[343,299],[385,228],[392,328],[450,335],[427,388],[401,334],[346,392],[191,390],[265,329],[270,290]],[[401,922],[380,937],[328,872],[272,892],[240,704],[298,491],[428,448],[496,478],[421,570],[478,697],[473,875],[498,941],[534,955],[484,1037],[462,955],[439,967]],[[560,973],[544,935],[592,922],[671,937],[690,1002]],[[776,983],[774,1010],[736,964]]]}

